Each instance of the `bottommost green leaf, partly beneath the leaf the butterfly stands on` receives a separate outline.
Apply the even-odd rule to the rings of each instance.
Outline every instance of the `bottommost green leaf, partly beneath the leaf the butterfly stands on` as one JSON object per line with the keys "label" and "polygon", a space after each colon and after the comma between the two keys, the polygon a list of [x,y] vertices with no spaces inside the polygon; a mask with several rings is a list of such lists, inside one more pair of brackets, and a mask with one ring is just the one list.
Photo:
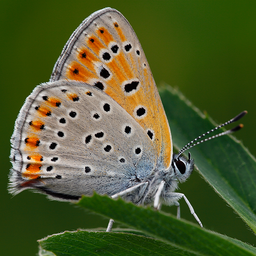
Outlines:
{"label": "bottommost green leaf, partly beneath the leaf the butterfly stands on", "polygon": [[149,237],[103,231],[66,231],[41,239],[39,244],[41,248],[47,248],[56,256],[196,255],[183,254],[183,250]]}

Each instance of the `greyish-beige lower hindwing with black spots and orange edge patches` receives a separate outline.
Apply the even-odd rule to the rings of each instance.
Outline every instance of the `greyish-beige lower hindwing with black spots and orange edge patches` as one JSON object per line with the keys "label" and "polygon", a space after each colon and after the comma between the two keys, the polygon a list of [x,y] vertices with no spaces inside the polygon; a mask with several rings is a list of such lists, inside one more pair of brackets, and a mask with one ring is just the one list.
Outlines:
{"label": "greyish-beige lower hindwing with black spots and orange edge patches", "polygon": [[11,160],[12,193],[32,188],[58,200],[93,190],[114,195],[148,177],[157,161],[150,138],[115,100],[64,80],[37,86],[26,99]]}

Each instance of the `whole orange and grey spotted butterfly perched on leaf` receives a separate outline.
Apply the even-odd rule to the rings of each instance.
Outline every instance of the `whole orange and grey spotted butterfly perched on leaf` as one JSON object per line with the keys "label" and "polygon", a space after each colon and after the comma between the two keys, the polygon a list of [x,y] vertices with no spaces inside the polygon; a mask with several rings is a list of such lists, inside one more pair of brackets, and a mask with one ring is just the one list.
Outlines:
{"label": "whole orange and grey spotted butterfly perched on leaf", "polygon": [[73,32],[50,81],[35,87],[21,108],[11,138],[9,192],[32,189],[76,201],[96,191],[155,208],[179,206],[183,197],[202,226],[185,195],[175,192],[194,167],[191,154],[187,160],[181,153],[196,140],[173,154],[140,42],[120,12],[105,8]]}

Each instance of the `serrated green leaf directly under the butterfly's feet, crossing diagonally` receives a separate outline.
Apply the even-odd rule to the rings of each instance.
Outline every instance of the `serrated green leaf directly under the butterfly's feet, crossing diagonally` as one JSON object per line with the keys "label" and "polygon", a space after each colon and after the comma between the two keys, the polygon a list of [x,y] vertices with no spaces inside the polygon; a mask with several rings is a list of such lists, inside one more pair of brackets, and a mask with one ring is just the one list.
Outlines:
{"label": "serrated green leaf directly under the butterfly's feet, crossing diagonally", "polygon": [[115,201],[108,196],[94,194],[92,198],[83,196],[78,205],[113,218],[186,253],[208,256],[256,255],[256,248],[241,241],[234,242],[226,236],[204,230],[198,224],[177,220],[175,216],[155,211],[151,207],[138,207],[120,198]]}

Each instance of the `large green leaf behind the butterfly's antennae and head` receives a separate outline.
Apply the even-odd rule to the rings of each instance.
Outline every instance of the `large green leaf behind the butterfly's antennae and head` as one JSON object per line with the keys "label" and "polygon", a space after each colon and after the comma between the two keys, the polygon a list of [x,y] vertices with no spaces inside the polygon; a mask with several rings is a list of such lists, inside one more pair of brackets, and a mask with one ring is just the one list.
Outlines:
{"label": "large green leaf behind the butterfly's antennae and head", "polygon": [[[172,87],[162,88],[160,96],[175,148],[183,148],[216,126]],[[241,142],[227,135],[197,145],[189,151],[204,179],[256,233],[255,158]]]}

